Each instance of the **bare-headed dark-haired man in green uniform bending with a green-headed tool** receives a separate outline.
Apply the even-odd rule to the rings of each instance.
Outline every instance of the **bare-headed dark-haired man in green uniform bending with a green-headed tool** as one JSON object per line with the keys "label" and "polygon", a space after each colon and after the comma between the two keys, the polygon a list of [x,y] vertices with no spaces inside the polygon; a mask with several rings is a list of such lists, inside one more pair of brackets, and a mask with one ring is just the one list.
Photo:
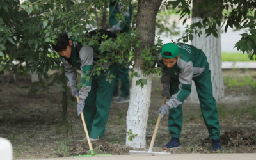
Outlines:
{"label": "bare-headed dark-haired man in green uniform bending with a green-headed tool", "polygon": [[[91,141],[99,140],[104,136],[105,127],[108,121],[109,109],[111,106],[115,78],[112,83],[106,81],[107,75],[104,70],[98,76],[92,75],[92,79],[86,81],[85,76],[90,76],[90,70],[99,60],[98,47],[82,46],[81,43],[70,40],[65,33],[60,34],[57,44],[52,44],[53,49],[63,57],[63,65],[65,67],[65,75],[68,80],[68,86],[72,95],[79,96],[77,104],[77,115],[83,111],[84,120],[88,129]],[[102,68],[109,68],[109,74],[116,76],[116,63],[106,63],[101,65]],[[78,92],[77,85],[77,69],[83,72],[82,84],[86,84],[86,88],[81,88]],[[86,140],[86,138],[84,138]]]}

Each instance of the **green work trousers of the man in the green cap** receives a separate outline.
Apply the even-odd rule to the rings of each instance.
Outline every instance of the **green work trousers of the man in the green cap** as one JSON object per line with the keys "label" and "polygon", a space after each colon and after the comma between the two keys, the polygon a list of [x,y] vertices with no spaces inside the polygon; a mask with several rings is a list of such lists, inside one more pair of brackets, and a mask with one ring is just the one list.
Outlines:
{"label": "green work trousers of the man in the green cap", "polygon": [[[202,75],[193,78],[196,84],[196,91],[200,101],[200,108],[204,118],[205,125],[212,139],[219,139],[220,125],[216,101],[212,96],[211,72],[205,69]],[[170,94],[174,95],[179,92],[179,80],[171,79]],[[193,108],[192,108],[193,109]],[[177,108],[170,109],[168,118],[168,127],[172,137],[180,138],[183,115],[181,105]]]}

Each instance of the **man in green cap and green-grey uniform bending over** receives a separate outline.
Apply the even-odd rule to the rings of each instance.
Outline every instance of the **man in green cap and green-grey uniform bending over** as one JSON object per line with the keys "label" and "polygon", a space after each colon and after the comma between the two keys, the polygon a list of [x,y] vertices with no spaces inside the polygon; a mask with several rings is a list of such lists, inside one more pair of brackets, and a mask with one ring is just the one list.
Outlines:
{"label": "man in green cap and green-grey uniform bending over", "polygon": [[161,119],[168,114],[168,128],[172,139],[164,145],[164,149],[180,147],[182,128],[182,103],[191,93],[192,80],[200,100],[200,107],[205,125],[212,139],[212,150],[222,150],[219,135],[220,126],[216,101],[212,96],[211,71],[204,52],[188,44],[164,44],[159,55],[158,64],[163,68],[161,83],[162,95],[168,95],[168,101],[159,111]]}

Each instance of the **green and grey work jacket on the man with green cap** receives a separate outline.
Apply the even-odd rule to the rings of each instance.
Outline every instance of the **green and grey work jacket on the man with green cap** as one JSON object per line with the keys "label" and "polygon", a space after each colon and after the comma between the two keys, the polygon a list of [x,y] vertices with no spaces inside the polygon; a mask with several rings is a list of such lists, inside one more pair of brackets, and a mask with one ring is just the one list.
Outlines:
{"label": "green and grey work jacket on the man with green cap", "polygon": [[[161,54],[159,54],[158,64],[163,68],[161,83],[163,87],[170,88],[172,81],[179,81],[179,92],[172,95],[166,103],[172,108],[176,108],[184,102],[191,93],[192,80],[205,74],[209,70],[209,64],[204,52],[193,45],[179,43],[180,58],[172,68],[164,65]],[[205,72],[204,72],[205,71]]]}

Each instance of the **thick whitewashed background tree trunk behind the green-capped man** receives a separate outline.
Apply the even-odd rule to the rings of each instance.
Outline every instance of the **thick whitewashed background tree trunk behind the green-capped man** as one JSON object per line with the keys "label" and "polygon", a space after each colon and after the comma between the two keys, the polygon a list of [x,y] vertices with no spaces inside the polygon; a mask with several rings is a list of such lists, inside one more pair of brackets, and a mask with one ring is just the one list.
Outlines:
{"label": "thick whitewashed background tree trunk behind the green-capped man", "polygon": [[[207,14],[211,14],[211,12],[214,12],[212,10],[204,11],[204,7],[196,7],[195,2],[200,3],[200,1],[202,0],[194,1],[192,10],[192,24],[202,20],[199,17],[200,12],[204,12],[204,14],[205,12],[207,12],[205,16],[207,16]],[[219,14],[221,14],[221,12]],[[216,99],[216,101],[223,99],[224,97],[224,83],[221,69],[221,27],[217,26],[217,29],[218,38],[215,38],[213,35],[206,37],[203,30],[203,34],[200,37],[198,37],[198,35],[194,35],[194,39],[191,42],[191,45],[194,45],[198,49],[202,49],[205,56],[207,56],[209,68],[211,70],[213,97]],[[192,85],[190,99],[194,102],[198,101],[198,95],[196,93],[196,87],[194,82]]]}

